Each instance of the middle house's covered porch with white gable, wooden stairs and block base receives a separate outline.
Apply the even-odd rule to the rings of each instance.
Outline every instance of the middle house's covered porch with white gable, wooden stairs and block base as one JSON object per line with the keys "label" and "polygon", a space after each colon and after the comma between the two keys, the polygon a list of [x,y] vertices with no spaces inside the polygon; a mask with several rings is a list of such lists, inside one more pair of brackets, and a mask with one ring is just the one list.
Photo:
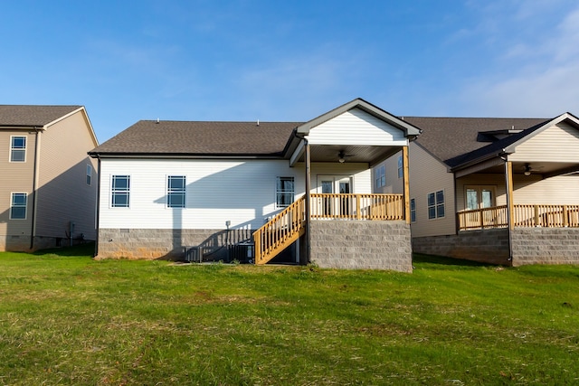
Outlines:
{"label": "middle house's covered porch with white gable, wooden stairs and block base", "polygon": [[[362,99],[297,127],[289,165],[303,170],[305,193],[253,233],[256,264],[299,240],[301,264],[411,271],[408,143],[418,134]],[[372,167],[399,152],[403,193],[373,194]],[[404,240],[396,242],[404,250],[389,242],[392,222],[403,228]],[[397,259],[388,250],[402,251],[404,262],[391,264]]]}

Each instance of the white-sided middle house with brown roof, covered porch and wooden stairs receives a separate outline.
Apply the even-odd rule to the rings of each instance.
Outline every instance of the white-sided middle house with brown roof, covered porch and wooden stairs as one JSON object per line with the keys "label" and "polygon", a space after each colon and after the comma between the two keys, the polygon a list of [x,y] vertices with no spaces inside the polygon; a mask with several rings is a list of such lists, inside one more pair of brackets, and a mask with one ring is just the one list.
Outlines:
{"label": "white-sided middle house with brown roof, covered porch and wooden stairs", "polygon": [[418,134],[363,99],[306,123],[139,121],[90,151],[97,256],[412,271],[408,194],[373,194],[371,167]]}

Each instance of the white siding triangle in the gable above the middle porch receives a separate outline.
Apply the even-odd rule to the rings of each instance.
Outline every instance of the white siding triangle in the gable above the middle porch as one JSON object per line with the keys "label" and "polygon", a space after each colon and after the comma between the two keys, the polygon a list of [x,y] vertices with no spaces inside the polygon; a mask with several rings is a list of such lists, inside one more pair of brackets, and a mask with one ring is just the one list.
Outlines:
{"label": "white siding triangle in the gable above the middle porch", "polygon": [[[355,127],[355,128],[353,128]],[[403,130],[353,108],[317,127],[308,135],[309,145],[404,146]]]}

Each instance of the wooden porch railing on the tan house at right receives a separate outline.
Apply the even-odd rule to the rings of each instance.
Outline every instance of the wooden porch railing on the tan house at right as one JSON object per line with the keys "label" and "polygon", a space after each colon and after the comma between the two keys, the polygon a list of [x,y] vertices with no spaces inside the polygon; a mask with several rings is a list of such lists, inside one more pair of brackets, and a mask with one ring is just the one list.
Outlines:
{"label": "wooden porch railing on the tan house at right", "polygon": [[[507,205],[459,212],[458,216],[460,231],[508,226]],[[577,228],[579,205],[514,205],[513,224],[521,228]]]}

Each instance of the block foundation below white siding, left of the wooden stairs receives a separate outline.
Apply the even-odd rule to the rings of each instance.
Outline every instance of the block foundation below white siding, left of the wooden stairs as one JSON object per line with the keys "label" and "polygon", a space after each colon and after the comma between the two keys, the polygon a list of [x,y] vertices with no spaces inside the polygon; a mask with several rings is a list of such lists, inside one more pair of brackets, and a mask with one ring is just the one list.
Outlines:
{"label": "block foundation below white siding, left of the wooden stairs", "polygon": [[97,259],[184,259],[203,246],[204,259],[225,259],[226,244],[252,240],[252,230],[100,229]]}

